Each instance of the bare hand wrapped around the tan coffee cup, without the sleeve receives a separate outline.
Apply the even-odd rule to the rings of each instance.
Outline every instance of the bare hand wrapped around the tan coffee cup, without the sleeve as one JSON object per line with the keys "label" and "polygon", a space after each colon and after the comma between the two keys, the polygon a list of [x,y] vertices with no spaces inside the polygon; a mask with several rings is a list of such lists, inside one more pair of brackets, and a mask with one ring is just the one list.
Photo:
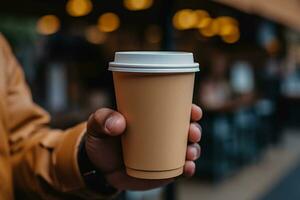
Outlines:
{"label": "bare hand wrapped around the tan coffee cup, without the sleeve", "polygon": [[[194,161],[200,156],[198,142],[201,138],[201,127],[195,121],[200,120],[201,117],[202,110],[198,106],[192,105],[189,145],[184,166],[184,175],[187,177],[193,176],[195,173]],[[137,179],[126,174],[120,140],[125,128],[125,118],[120,113],[108,108],[99,109],[88,120],[86,151],[91,162],[104,173],[108,183],[119,190],[147,190],[174,181],[174,178]]]}

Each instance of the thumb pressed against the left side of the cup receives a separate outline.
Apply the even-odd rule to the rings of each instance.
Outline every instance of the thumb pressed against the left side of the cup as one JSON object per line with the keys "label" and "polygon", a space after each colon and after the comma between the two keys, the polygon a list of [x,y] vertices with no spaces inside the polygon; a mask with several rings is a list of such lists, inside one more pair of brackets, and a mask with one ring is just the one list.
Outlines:
{"label": "thumb pressed against the left side of the cup", "polygon": [[101,108],[92,114],[87,123],[87,133],[94,137],[117,136],[126,128],[125,118],[118,112]]}

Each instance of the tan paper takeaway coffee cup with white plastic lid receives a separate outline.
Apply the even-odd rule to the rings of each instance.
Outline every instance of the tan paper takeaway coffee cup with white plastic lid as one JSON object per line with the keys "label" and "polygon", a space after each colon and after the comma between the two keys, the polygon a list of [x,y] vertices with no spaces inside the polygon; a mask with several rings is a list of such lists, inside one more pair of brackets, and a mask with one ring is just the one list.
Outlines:
{"label": "tan paper takeaway coffee cup with white plastic lid", "polygon": [[116,52],[113,72],[117,108],[126,119],[122,136],[126,173],[165,179],[183,172],[195,72],[187,52]]}

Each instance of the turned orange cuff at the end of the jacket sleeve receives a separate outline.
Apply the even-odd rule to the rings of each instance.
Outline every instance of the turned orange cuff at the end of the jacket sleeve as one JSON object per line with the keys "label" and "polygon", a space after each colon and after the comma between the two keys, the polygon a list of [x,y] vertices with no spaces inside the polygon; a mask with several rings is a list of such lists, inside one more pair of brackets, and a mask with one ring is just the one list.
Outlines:
{"label": "turned orange cuff at the end of the jacket sleeve", "polygon": [[63,192],[85,187],[77,162],[79,144],[85,131],[86,123],[67,130],[61,144],[54,152],[56,175]]}

